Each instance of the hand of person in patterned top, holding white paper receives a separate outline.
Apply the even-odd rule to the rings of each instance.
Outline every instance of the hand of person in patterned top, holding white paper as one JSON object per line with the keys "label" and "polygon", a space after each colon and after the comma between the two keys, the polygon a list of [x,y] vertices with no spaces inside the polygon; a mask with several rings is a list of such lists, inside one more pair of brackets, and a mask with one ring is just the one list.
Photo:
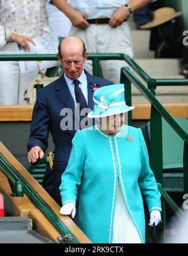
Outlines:
{"label": "hand of person in patterned top, holding white paper", "polygon": [[25,51],[28,50],[28,52],[30,52],[28,41],[33,43],[33,45],[36,45],[36,43],[34,43],[33,39],[30,36],[17,35],[14,32],[12,32],[9,38],[11,41],[18,43],[20,47],[23,48]]}

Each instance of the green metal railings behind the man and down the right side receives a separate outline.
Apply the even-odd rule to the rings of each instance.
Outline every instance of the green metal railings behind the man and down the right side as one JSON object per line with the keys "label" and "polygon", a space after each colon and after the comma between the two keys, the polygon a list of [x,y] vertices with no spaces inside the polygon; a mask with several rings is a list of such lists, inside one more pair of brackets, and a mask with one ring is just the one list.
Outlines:
{"label": "green metal railings behind the man and down the right side", "polygon": [[[0,55],[0,61],[3,60],[57,60],[55,54],[51,55]],[[150,165],[159,186],[164,201],[169,204],[170,208],[183,216],[184,213],[179,209],[177,204],[170,198],[162,187],[163,184],[163,163],[162,163],[162,120],[163,117],[167,123],[177,132],[184,140],[184,192],[188,192],[188,135],[182,127],[170,116],[165,108],[155,98],[155,89],[157,86],[176,86],[187,85],[188,79],[154,79],[150,77],[141,67],[137,65],[132,58],[122,53],[90,53],[88,60],[93,62],[93,75],[100,76],[100,60],[125,60],[130,67],[147,83],[148,89],[140,82],[135,75],[128,69],[122,68],[120,82],[125,84],[126,101],[132,105],[131,83],[148,99],[152,104],[150,116]],[[128,123],[131,124],[132,113],[128,112]],[[163,213],[164,215],[164,213]]]}

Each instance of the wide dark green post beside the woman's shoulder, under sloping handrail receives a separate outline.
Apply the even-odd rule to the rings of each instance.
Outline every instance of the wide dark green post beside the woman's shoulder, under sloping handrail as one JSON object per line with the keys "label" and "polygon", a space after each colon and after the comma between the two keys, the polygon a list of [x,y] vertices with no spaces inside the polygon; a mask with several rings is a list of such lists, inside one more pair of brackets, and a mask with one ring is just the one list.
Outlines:
{"label": "wide dark green post beside the woman's shoulder, under sloping handrail", "polygon": [[150,116],[150,166],[155,179],[163,186],[162,120],[160,113],[153,105]]}

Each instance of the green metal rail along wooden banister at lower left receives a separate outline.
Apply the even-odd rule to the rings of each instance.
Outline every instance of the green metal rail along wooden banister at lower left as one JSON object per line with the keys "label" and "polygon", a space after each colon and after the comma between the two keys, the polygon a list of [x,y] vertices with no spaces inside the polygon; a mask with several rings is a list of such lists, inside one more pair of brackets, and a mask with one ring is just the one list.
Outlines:
{"label": "green metal rail along wooden banister at lower left", "polygon": [[46,204],[46,202],[39,196],[39,194],[29,185],[24,177],[11,165],[4,156],[0,153],[0,169],[8,177],[11,186],[15,186],[15,196],[23,196],[25,192],[31,199],[33,204],[50,220],[50,222],[56,227],[56,229],[62,235],[63,242],[66,238],[69,238],[70,243],[79,243],[78,240],[70,233],[70,231],[63,225],[54,211]]}

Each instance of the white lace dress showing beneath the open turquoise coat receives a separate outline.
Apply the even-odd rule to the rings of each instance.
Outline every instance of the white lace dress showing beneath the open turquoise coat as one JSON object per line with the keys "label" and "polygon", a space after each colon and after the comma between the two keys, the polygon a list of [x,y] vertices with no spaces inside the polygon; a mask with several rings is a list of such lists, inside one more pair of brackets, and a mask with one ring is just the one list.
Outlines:
{"label": "white lace dress showing beneath the open turquoise coat", "polygon": [[112,243],[142,243],[137,228],[128,213],[119,181],[115,201]]}

